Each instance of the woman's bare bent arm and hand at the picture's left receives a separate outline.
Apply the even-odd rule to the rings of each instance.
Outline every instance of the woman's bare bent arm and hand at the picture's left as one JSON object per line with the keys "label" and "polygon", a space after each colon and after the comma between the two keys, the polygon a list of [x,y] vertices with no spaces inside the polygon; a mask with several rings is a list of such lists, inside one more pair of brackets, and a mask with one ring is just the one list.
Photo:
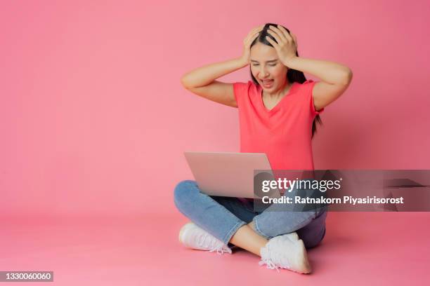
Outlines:
{"label": "woman's bare bent arm and hand at the picture's left", "polygon": [[230,107],[237,107],[235,100],[233,83],[222,83],[216,81],[221,76],[246,67],[249,64],[250,46],[263,29],[263,25],[256,27],[249,32],[243,41],[243,53],[241,57],[224,62],[207,64],[204,67],[193,69],[184,74],[181,78],[182,85],[196,95],[200,95],[208,100],[226,104]]}

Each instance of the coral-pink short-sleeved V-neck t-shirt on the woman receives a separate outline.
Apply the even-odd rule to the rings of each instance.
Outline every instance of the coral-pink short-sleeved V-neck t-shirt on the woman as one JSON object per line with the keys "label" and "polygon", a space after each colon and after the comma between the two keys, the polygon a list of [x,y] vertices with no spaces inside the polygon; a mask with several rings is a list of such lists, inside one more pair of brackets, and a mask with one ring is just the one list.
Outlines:
{"label": "coral-pink short-sleeved V-neck t-shirt on the woman", "polygon": [[285,97],[268,110],[262,88],[252,81],[233,83],[240,121],[240,151],[265,153],[273,170],[313,170],[312,123],[315,81],[293,83]]}

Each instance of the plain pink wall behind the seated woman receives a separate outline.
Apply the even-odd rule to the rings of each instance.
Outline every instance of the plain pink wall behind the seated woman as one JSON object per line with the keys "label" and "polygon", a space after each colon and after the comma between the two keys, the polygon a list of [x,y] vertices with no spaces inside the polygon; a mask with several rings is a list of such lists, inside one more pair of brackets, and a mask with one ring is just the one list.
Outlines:
{"label": "plain pink wall behind the seated woman", "polygon": [[[239,130],[237,109],[189,93],[180,77],[240,56],[249,29],[264,22],[294,32],[302,57],[353,70],[350,88],[322,114],[315,168],[429,169],[429,7],[4,1],[0,218],[181,217],[174,186],[193,179],[183,151],[238,151]],[[223,80],[248,81],[249,69]],[[417,219],[405,224],[419,228]]]}

